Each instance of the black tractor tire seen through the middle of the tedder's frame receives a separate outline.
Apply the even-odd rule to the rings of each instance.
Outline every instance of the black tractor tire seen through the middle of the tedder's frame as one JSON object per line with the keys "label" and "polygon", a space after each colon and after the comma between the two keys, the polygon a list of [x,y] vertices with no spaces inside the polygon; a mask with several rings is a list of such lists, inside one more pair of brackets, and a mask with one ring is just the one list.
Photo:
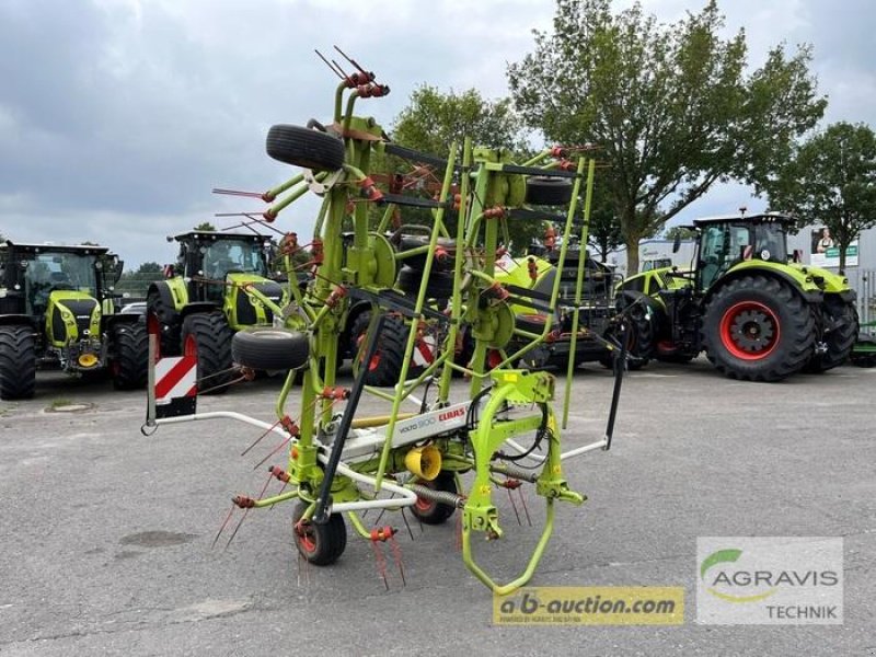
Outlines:
{"label": "black tractor tire seen through the middle of the tedder's frame", "polygon": [[[368,333],[368,325],[371,322],[371,313],[362,312],[353,322],[350,327],[350,353],[353,354],[353,371],[358,374],[360,350],[365,350],[365,338]],[[367,385],[385,388],[395,385],[402,376],[402,359],[405,347],[407,347],[407,325],[402,318],[388,315],[383,319],[383,331],[380,334],[377,353],[368,365],[368,372],[365,376]],[[359,347],[361,346],[361,349]],[[413,362],[407,369],[408,377],[416,377],[423,368]]]}

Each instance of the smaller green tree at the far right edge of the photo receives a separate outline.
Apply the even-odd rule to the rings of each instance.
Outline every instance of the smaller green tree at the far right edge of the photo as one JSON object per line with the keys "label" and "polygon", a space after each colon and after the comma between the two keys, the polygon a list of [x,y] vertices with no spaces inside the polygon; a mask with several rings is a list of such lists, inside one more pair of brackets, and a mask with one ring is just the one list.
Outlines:
{"label": "smaller green tree at the far right edge of the photo", "polygon": [[876,135],[864,124],[837,123],[799,146],[764,188],[770,207],[789,211],[802,228],[820,223],[845,250],[876,226]]}

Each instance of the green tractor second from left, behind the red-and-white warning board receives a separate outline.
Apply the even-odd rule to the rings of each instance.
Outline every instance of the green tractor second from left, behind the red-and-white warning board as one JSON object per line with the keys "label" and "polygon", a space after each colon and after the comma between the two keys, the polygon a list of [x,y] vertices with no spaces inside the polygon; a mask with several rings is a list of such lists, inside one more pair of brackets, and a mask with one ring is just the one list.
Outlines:
{"label": "green tractor second from left, behind the red-and-white warning board", "polygon": [[191,231],[166,280],[147,292],[147,316],[162,356],[196,356],[198,389],[221,393],[233,378],[231,339],[238,331],[272,328],[289,291],[269,278],[270,238]]}

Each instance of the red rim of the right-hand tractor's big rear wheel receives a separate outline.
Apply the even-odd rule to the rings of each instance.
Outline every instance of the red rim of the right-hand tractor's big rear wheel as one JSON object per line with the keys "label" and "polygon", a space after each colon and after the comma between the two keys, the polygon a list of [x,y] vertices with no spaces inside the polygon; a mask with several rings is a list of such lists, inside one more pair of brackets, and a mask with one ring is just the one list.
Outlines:
{"label": "red rim of the right-hand tractor's big rear wheel", "polygon": [[773,310],[759,301],[742,301],[721,319],[724,348],[741,360],[762,360],[779,345],[781,331]]}

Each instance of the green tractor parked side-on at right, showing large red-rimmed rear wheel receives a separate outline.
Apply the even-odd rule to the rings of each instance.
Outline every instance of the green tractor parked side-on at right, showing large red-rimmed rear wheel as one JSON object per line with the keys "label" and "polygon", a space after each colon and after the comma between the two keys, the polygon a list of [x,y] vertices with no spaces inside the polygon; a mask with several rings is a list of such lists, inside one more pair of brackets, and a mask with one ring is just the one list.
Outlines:
{"label": "green tractor parked side-on at right, showing large red-rimmed rear wheel", "polygon": [[625,279],[618,304],[634,306],[635,326],[647,333],[637,356],[685,362],[705,351],[721,372],[747,381],[844,362],[857,337],[855,292],[843,276],[788,257],[792,224],[779,214],[700,219],[691,269]]}

